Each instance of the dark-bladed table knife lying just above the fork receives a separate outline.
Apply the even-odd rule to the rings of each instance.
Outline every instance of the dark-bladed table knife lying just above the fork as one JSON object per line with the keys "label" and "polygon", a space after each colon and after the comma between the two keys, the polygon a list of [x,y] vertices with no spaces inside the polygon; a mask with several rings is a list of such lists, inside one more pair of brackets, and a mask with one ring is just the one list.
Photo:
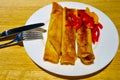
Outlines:
{"label": "dark-bladed table knife lying just above the fork", "polygon": [[44,25],[44,23],[36,23],[36,24],[30,24],[30,25],[25,25],[25,26],[13,28],[13,29],[5,30],[2,33],[0,33],[0,38],[7,37],[7,36],[10,36],[10,35],[22,32],[22,31],[38,28],[38,27],[41,27],[43,25]]}

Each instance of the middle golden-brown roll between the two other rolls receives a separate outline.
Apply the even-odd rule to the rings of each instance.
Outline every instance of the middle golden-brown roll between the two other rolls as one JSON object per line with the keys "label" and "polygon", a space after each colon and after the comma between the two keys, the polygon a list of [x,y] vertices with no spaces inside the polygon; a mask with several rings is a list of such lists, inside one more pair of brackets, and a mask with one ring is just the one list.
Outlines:
{"label": "middle golden-brown roll between the two other rolls", "polygon": [[75,51],[75,29],[73,26],[66,26],[70,21],[69,13],[75,13],[75,9],[63,9],[63,27],[62,27],[62,45],[61,45],[61,64],[75,64],[76,51]]}

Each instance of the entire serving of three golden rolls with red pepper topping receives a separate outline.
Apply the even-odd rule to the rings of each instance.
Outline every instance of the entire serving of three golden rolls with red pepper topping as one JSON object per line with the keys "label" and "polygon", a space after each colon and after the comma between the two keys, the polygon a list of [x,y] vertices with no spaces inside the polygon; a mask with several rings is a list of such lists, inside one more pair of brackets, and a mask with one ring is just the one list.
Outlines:
{"label": "entire serving of three golden rolls with red pepper topping", "polygon": [[99,41],[102,28],[97,14],[89,8],[63,8],[53,2],[44,60],[74,65],[79,57],[83,64],[94,63],[92,43]]}

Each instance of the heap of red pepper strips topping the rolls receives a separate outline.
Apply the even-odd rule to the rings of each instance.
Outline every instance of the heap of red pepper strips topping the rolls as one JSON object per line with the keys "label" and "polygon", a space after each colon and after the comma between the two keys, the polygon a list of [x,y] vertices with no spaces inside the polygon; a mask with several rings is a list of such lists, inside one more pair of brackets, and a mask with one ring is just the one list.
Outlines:
{"label": "heap of red pepper strips topping the rolls", "polygon": [[92,16],[87,14],[85,10],[78,10],[78,16],[74,15],[73,13],[69,13],[68,17],[70,20],[67,22],[66,26],[72,26],[76,30],[78,30],[81,26],[91,29],[92,42],[95,44],[95,42],[98,42],[99,40],[100,29],[102,29],[103,26],[102,24],[97,23],[98,21],[95,21],[95,13],[88,13],[91,13]]}

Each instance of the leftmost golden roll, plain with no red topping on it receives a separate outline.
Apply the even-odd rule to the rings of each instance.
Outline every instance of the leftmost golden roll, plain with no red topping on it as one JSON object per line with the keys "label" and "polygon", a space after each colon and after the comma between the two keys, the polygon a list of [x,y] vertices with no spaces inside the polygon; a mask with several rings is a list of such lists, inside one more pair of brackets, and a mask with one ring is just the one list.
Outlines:
{"label": "leftmost golden roll, plain with no red topping on it", "polygon": [[58,63],[60,58],[62,18],[63,8],[59,4],[53,2],[44,50],[44,60],[53,63]]}

